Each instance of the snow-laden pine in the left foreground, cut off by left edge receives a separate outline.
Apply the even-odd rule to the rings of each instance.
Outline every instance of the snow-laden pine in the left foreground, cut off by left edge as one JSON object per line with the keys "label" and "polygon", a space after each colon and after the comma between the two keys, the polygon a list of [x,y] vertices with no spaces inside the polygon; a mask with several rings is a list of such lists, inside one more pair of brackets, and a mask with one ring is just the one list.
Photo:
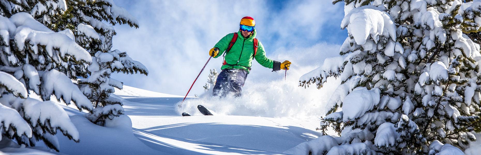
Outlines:
{"label": "snow-laden pine in the left foreground, cut off by left edge", "polygon": [[[1,139],[11,139],[26,146],[34,146],[42,140],[58,151],[59,143],[54,135],[61,131],[78,142],[79,134],[74,124],[63,108],[50,98],[55,95],[66,104],[74,103],[79,110],[92,110],[89,99],[78,86],[63,72],[54,69],[67,67],[69,63],[88,66],[91,63],[89,52],[76,44],[72,31],[54,32],[26,12],[14,13],[7,18],[5,16],[12,10],[22,7],[9,0],[2,0],[1,4]],[[30,97],[34,94],[41,100]]]}

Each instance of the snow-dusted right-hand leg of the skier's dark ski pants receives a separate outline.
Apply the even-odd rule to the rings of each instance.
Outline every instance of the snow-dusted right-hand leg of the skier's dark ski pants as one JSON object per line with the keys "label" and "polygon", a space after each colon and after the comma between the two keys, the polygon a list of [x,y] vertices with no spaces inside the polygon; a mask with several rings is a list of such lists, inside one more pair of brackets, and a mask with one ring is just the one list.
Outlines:
{"label": "snow-dusted right-hand leg of the skier's dark ski pants", "polygon": [[241,96],[242,86],[244,86],[246,79],[247,71],[245,70],[235,70],[228,76],[229,91],[232,92],[235,97]]}

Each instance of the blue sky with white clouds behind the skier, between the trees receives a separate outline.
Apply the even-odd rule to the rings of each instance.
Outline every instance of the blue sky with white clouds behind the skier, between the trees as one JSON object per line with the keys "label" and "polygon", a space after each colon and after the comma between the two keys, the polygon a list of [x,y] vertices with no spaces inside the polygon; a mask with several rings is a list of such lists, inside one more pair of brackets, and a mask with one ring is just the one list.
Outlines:
{"label": "blue sky with white clouds behind the skier, between the trees", "polygon": [[[209,58],[207,52],[228,33],[237,32],[240,19],[256,21],[257,38],[272,60],[290,60],[289,76],[320,66],[338,55],[347,37],[340,29],[343,5],[330,0],[114,0],[139,21],[139,28],[116,25],[114,49],[126,51],[149,69],[149,76],[114,74],[126,85],[161,93],[185,95]],[[209,69],[220,70],[222,58],[212,59],[190,95],[203,93]],[[280,80],[253,61],[246,85]],[[220,72],[220,71],[219,71]]]}

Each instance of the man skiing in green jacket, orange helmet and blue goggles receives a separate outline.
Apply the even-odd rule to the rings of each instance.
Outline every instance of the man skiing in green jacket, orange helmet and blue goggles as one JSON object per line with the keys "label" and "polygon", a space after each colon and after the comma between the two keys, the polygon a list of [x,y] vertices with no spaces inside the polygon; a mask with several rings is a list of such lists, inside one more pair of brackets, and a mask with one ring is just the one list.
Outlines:
{"label": "man skiing in green jacket, orange helmet and blue goggles", "polygon": [[291,62],[285,60],[278,62],[266,57],[264,46],[255,38],[255,21],[252,17],[246,16],[241,19],[240,30],[224,36],[209,51],[209,55],[217,58],[225,51],[222,72],[217,76],[213,95],[226,96],[233,93],[234,96],[241,96],[241,88],[249,74],[252,60],[256,60],[264,67],[272,71],[289,70]]}

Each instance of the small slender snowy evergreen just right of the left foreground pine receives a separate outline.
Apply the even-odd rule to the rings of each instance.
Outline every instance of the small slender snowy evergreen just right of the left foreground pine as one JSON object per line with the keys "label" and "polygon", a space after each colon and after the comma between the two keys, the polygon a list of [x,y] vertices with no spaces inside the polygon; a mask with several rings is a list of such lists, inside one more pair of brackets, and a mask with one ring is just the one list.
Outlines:
{"label": "small slender snowy evergreen just right of the left foreground pine", "polygon": [[86,117],[93,123],[103,126],[106,119],[114,119],[124,114],[122,102],[110,96],[114,93],[114,87],[122,89],[123,83],[111,78],[112,72],[148,74],[147,68],[135,60],[132,60],[126,52],[117,49],[112,50],[112,37],[114,33],[107,33],[102,40],[101,51],[92,57],[92,64],[88,70],[89,78],[78,81],[80,90],[95,105],[93,111]]}

